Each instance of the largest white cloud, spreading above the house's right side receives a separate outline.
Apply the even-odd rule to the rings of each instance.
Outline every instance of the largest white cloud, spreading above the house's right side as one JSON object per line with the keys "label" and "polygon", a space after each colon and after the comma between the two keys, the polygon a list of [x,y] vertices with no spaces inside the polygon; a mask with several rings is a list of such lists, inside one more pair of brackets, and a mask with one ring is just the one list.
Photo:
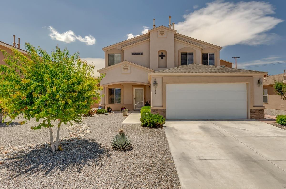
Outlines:
{"label": "largest white cloud, spreading above the house's right side", "polygon": [[266,33],[282,19],[265,2],[206,3],[206,7],[184,15],[185,21],[176,25],[178,33],[219,46],[268,44],[278,35]]}

